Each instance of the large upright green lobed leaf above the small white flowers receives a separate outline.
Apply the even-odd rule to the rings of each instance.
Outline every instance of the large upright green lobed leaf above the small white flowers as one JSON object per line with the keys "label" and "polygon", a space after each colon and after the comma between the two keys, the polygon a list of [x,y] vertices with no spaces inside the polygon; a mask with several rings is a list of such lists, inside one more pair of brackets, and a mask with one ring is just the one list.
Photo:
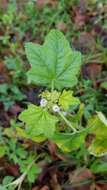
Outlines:
{"label": "large upright green lobed leaf above the small white flowers", "polygon": [[26,43],[26,55],[31,64],[27,76],[30,82],[56,89],[73,87],[81,66],[81,53],[72,51],[64,35],[51,30],[41,46]]}

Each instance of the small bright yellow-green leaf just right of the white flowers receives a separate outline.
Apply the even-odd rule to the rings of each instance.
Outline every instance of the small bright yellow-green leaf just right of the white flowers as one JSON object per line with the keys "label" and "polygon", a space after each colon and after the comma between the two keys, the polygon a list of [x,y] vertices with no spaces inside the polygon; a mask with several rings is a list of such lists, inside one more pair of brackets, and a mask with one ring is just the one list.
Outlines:
{"label": "small bright yellow-green leaf just right of the white flowers", "polygon": [[75,98],[73,95],[72,91],[66,91],[64,90],[61,94],[61,96],[59,97],[59,104],[60,106],[67,110],[69,109],[70,106],[74,106],[74,105],[78,105],[80,104],[80,101],[78,98]]}

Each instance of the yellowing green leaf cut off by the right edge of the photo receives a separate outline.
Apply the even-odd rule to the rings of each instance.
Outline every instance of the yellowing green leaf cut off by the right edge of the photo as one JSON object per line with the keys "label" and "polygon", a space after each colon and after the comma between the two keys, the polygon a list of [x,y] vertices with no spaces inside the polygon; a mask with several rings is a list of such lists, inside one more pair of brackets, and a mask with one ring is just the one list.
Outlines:
{"label": "yellowing green leaf cut off by the right edge of the photo", "polygon": [[89,146],[89,152],[95,156],[107,154],[107,120],[102,113],[89,121],[89,133],[94,139]]}

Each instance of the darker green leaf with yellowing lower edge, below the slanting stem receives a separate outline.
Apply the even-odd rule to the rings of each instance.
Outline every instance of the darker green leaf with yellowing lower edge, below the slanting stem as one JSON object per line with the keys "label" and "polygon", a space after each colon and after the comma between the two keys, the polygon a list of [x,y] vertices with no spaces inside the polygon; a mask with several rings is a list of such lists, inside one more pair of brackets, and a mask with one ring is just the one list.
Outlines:
{"label": "darker green leaf with yellowing lower edge, below the slanting stem", "polygon": [[64,152],[71,152],[80,148],[84,143],[87,130],[82,130],[75,133],[56,133],[52,140]]}

